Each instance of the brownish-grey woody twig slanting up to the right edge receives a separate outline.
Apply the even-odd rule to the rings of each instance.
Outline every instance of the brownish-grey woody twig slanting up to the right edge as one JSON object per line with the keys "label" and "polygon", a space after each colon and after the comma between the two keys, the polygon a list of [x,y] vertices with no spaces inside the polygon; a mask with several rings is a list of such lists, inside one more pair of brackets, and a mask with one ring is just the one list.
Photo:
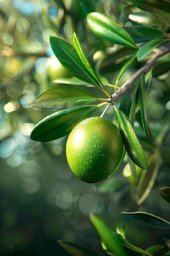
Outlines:
{"label": "brownish-grey woody twig slanting up to the right edge", "polygon": [[166,53],[169,53],[169,52],[170,52],[170,44],[164,45],[158,51],[156,51],[156,53],[154,53],[152,58],[149,59],[147,63],[144,64],[143,67],[141,67],[136,73],[134,73],[134,75],[132,75],[131,78],[129,78],[125,83],[123,83],[120,89],[118,89],[117,91],[115,91],[114,94],[112,94],[111,102],[112,103],[116,102],[117,99],[119,99],[123,94],[126,93],[126,91],[128,91],[128,89],[131,88],[131,86],[133,86],[134,82],[136,81],[137,78],[139,78],[140,75],[148,72],[152,68],[152,66],[155,64],[155,61],[157,61],[159,58],[161,58],[162,56],[166,55]]}

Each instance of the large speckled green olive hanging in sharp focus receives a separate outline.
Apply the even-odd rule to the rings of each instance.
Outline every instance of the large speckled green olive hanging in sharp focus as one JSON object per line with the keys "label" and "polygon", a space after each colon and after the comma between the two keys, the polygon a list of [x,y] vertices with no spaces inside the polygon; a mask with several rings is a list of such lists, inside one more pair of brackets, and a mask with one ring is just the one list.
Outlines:
{"label": "large speckled green olive hanging in sharp focus", "polygon": [[66,143],[66,158],[73,173],[93,183],[110,176],[123,155],[119,129],[106,118],[91,117],[77,124]]}

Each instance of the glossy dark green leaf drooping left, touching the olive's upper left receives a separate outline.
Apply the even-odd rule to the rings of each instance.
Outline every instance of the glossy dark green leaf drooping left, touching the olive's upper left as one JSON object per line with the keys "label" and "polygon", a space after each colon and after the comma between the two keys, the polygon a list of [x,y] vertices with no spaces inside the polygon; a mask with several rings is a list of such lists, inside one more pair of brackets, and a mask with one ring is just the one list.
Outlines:
{"label": "glossy dark green leaf drooping left, touching the olive's upper left", "polygon": [[39,121],[31,132],[31,139],[50,141],[61,138],[73,129],[83,119],[90,116],[98,107],[81,106],[59,110]]}

